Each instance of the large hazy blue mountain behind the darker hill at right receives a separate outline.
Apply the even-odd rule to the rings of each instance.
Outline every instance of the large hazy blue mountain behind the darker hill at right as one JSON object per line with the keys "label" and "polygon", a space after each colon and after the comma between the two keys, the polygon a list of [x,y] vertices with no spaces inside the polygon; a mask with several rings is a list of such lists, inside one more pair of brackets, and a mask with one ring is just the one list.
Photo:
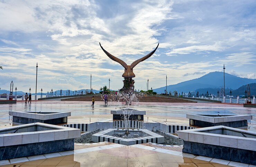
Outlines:
{"label": "large hazy blue mountain behind the darker hill at right", "polygon": [[[241,77],[238,77],[235,75],[225,73],[225,92],[226,92],[226,89],[228,89],[228,88],[235,90],[235,89],[239,88],[241,85],[247,85],[250,83],[256,83],[256,79],[241,78]],[[173,92],[176,90],[178,93],[181,93],[181,92],[188,93],[189,91],[193,92],[200,88],[220,89],[220,86],[223,86],[223,85],[224,85],[223,72],[210,72],[210,73],[208,73],[202,77],[199,77],[197,79],[184,81],[184,82],[181,82],[181,83],[178,83],[175,85],[168,85],[167,91]],[[165,89],[166,89],[165,86],[156,88],[156,89],[154,89],[154,92],[164,93]],[[214,92],[213,94],[216,94],[216,92]]]}

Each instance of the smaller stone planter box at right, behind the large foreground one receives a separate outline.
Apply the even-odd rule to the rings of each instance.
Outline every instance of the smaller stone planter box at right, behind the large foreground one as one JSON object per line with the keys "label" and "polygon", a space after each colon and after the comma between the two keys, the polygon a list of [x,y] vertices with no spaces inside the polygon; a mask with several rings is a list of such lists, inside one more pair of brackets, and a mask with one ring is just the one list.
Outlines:
{"label": "smaller stone planter box at right, behind the large foreground one", "polygon": [[186,114],[189,118],[189,123],[192,126],[210,127],[210,126],[229,126],[229,127],[243,127],[247,126],[247,120],[253,119],[252,115],[197,115]]}

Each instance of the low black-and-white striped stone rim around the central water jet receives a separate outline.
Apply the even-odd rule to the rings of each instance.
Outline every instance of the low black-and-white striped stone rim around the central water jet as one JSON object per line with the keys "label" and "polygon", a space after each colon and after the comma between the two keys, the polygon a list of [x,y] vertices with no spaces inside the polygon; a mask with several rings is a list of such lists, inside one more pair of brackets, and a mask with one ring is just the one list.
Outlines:
{"label": "low black-and-white striped stone rim around the central water jet", "polygon": [[164,136],[158,135],[154,132],[148,131],[147,129],[130,129],[130,133],[140,133],[143,132],[147,134],[146,137],[138,137],[138,138],[122,138],[122,137],[115,137],[112,136],[115,131],[118,131],[118,133],[125,133],[124,129],[107,129],[105,131],[96,133],[92,135],[92,141],[93,142],[111,142],[111,143],[117,143],[122,145],[135,145],[135,144],[141,144],[141,143],[157,143],[161,144],[164,143]]}

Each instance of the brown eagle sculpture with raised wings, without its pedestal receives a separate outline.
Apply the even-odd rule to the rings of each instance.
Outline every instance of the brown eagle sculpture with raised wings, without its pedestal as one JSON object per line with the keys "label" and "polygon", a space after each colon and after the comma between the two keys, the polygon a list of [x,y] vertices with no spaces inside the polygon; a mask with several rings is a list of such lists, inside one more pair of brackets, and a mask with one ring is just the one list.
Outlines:
{"label": "brown eagle sculpture with raised wings, without its pedestal", "polygon": [[[158,43],[159,45],[159,43]],[[156,46],[156,49],[158,48],[158,45]],[[116,58],[115,56],[113,56],[112,54],[110,54],[109,52],[107,52],[105,49],[103,49],[103,47],[101,46],[100,44],[100,47],[101,49],[107,54],[107,56],[112,59],[113,61],[116,61],[118,63],[120,63],[123,67],[125,67],[125,72],[124,74],[122,75],[122,77],[124,78],[133,78],[135,77],[135,74],[133,73],[133,68],[139,63],[139,62],[142,62],[146,59],[148,59],[150,56],[152,56],[156,49],[153,50],[152,52],[150,52],[149,54],[147,54],[146,56],[144,56],[143,58],[141,59],[138,59],[136,61],[134,61],[133,63],[131,63],[131,65],[127,65],[124,61],[122,61],[121,59],[118,59]]]}

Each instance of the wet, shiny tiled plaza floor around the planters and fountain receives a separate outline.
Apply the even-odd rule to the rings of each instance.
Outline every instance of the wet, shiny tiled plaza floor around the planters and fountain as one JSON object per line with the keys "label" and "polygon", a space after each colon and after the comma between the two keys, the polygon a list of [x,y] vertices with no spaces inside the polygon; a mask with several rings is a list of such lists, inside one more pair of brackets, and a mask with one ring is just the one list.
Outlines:
{"label": "wet, shiny tiled plaza floor around the planters and fountain", "polygon": [[[0,128],[12,126],[9,111],[47,111],[71,112],[68,124],[112,121],[110,110],[118,109],[121,104],[105,106],[104,102],[63,102],[33,101],[31,104],[0,105]],[[256,108],[245,108],[241,105],[216,103],[139,103],[132,108],[145,110],[145,122],[161,122],[172,125],[189,125],[186,114],[246,114],[253,115],[247,129],[256,131]],[[124,146],[108,142],[78,144],[74,151],[52,153],[24,158],[0,161],[0,165],[10,167],[43,167],[43,166],[158,166],[158,167],[222,167],[249,166],[227,160],[203,157],[182,153],[182,146],[165,146],[159,144],[138,144]],[[252,165],[250,165],[252,166]]]}

